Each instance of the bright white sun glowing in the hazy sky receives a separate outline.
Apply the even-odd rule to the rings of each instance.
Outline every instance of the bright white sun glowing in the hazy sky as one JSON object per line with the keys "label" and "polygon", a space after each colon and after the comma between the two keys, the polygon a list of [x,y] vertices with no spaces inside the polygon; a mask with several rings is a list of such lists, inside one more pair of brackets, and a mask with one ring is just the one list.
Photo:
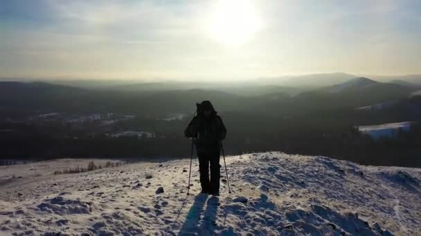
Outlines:
{"label": "bright white sun glowing in the hazy sky", "polygon": [[253,37],[259,28],[256,7],[247,0],[217,1],[208,28],[221,43],[238,46]]}

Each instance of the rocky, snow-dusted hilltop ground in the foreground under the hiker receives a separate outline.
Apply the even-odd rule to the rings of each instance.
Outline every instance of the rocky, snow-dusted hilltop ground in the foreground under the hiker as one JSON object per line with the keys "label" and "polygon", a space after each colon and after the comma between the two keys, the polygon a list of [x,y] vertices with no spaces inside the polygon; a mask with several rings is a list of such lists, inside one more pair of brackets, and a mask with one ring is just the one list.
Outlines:
{"label": "rocky, snow-dusted hilltop ground in the foreground under the hiker", "polygon": [[190,195],[188,159],[1,168],[0,235],[421,235],[421,169],[275,152],[227,164],[232,193],[223,177],[220,197],[199,194],[196,160]]}

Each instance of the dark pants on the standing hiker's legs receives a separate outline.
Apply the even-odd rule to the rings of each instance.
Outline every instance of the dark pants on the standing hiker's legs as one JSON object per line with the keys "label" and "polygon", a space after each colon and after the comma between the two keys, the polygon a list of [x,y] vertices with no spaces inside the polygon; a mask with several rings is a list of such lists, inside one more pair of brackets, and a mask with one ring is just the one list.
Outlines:
{"label": "dark pants on the standing hiker's legs", "polygon": [[[220,153],[216,150],[211,153],[197,153],[199,157],[199,173],[201,190],[206,193],[220,192]],[[211,178],[209,178],[209,167],[211,167]]]}

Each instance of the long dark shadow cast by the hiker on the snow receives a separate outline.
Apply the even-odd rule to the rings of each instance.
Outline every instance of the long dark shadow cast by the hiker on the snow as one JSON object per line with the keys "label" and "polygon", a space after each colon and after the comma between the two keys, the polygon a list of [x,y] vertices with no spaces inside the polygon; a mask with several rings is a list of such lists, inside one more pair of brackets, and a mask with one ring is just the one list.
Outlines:
{"label": "long dark shadow cast by the hiker on the snow", "polygon": [[[201,213],[206,200],[208,200],[208,204],[204,211],[204,217],[201,220]],[[199,235],[213,235],[218,206],[219,201],[216,197],[208,199],[208,195],[197,195],[195,202],[186,215],[183,226],[181,226],[179,235],[197,235],[198,233]]]}

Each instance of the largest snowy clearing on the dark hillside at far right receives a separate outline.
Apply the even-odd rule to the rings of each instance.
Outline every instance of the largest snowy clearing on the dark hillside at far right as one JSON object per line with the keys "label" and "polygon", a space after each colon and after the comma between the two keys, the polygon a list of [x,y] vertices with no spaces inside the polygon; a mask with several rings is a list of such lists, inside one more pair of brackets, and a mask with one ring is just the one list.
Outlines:
{"label": "largest snowy clearing on the dark hillside at far right", "polygon": [[400,131],[409,131],[413,122],[388,123],[375,126],[358,126],[359,132],[370,135],[373,139],[395,137]]}

